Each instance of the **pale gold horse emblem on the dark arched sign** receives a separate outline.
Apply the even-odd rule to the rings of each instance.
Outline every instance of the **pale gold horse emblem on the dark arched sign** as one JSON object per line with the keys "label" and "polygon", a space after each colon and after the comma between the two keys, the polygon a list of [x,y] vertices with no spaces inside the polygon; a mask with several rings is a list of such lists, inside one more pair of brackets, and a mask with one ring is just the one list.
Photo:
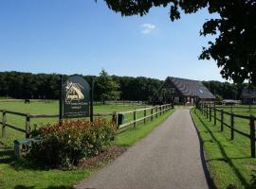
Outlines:
{"label": "pale gold horse emblem on the dark arched sign", "polygon": [[84,99],[82,94],[82,86],[79,83],[67,82],[65,87],[65,103],[71,104],[73,101],[80,101]]}

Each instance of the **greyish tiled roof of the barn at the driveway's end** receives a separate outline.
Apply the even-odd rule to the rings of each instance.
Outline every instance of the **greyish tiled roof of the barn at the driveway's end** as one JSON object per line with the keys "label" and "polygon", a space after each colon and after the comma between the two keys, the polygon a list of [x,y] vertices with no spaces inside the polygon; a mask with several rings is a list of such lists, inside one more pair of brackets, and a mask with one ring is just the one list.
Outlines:
{"label": "greyish tiled roof of the barn at the driveway's end", "polygon": [[214,99],[215,96],[210,93],[206,86],[199,80],[191,80],[187,78],[167,77],[171,79],[175,87],[183,95],[198,96],[201,99]]}

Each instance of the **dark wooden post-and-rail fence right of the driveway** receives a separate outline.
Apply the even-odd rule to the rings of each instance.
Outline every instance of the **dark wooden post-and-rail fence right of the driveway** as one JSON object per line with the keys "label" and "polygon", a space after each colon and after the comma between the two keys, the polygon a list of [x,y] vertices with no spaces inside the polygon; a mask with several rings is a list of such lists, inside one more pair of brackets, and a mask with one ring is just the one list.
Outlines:
{"label": "dark wooden post-and-rail fence right of the driveway", "polygon": [[[223,106],[215,106],[213,104],[200,104],[199,107],[197,107],[200,112],[209,118],[210,121],[213,119],[214,125],[216,125],[216,122],[219,121],[220,123],[220,129],[221,131],[224,131],[224,127],[227,127],[230,129],[230,140],[234,140],[234,132],[237,132],[241,134],[244,137],[247,137],[250,140],[250,154],[252,158],[255,158],[255,120],[256,117],[253,115],[241,115],[236,114],[233,112],[225,112],[223,109],[227,107]],[[219,117],[217,116],[217,112],[219,112]],[[229,123],[224,121],[224,117],[229,116]],[[244,120],[247,120],[248,126],[249,126],[249,134],[245,133],[242,130],[236,129],[234,118],[241,118]],[[247,127],[247,125],[245,126]]]}

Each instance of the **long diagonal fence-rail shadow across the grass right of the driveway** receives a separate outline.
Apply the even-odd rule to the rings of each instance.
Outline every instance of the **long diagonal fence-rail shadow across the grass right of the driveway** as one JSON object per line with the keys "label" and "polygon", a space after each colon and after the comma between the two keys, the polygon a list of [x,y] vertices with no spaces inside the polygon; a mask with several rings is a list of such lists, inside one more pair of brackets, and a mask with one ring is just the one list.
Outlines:
{"label": "long diagonal fence-rail shadow across the grass right of the driveway", "polygon": [[[234,163],[232,163],[232,159],[236,159],[236,158],[229,158],[229,156],[227,155],[224,147],[221,145],[221,143],[216,139],[216,137],[212,134],[212,131],[207,127],[207,125],[205,124],[205,122],[201,119],[200,116],[197,115],[197,112],[195,112],[196,117],[198,118],[198,120],[200,121],[200,123],[204,126],[205,129],[208,130],[212,140],[219,146],[219,149],[221,151],[222,156],[224,157],[221,161],[225,161],[226,163],[229,164],[230,167],[232,167],[232,170],[234,172],[234,174],[238,177],[238,179],[247,187],[247,188],[251,188],[251,186],[247,183],[247,180],[243,177],[243,175],[240,173],[239,169],[234,165]],[[248,159],[248,157],[244,157],[244,158],[237,158],[237,159]]]}

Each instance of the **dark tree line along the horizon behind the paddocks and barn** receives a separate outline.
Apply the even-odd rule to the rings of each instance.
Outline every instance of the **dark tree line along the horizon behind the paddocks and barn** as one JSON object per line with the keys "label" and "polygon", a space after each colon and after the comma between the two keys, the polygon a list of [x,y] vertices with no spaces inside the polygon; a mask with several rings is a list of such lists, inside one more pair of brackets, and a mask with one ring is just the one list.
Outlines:
{"label": "dark tree line along the horizon behind the paddocks and barn", "polygon": [[[64,75],[64,80],[67,79]],[[109,76],[104,70],[100,76],[82,76],[89,83],[94,79],[94,99],[99,100],[143,100],[154,98],[164,82],[149,77]],[[247,84],[231,84],[220,81],[203,81],[219,99],[240,99]],[[0,96],[19,99],[58,99],[60,75],[31,74],[23,72],[0,72]]]}

